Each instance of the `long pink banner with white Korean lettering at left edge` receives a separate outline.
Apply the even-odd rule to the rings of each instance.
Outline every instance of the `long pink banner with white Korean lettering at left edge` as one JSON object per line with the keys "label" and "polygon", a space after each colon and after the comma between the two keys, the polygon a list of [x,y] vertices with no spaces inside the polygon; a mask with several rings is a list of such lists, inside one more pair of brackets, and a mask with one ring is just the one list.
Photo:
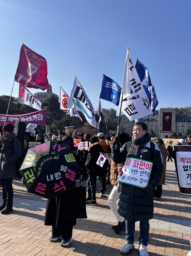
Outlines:
{"label": "long pink banner with white Korean lettering at left edge", "polygon": [[[0,114],[0,125],[4,125],[6,115]],[[7,115],[7,123],[15,125],[16,121],[25,122],[28,124],[38,124],[43,125],[47,124],[47,109],[42,109],[33,113],[24,114],[24,115]]]}

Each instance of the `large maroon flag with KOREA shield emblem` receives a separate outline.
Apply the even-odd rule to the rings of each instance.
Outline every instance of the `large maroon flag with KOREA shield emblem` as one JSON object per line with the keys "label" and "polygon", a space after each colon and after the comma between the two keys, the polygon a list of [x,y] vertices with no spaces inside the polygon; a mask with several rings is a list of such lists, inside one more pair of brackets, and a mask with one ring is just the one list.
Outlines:
{"label": "large maroon flag with KOREA shield emblem", "polygon": [[21,46],[15,81],[28,88],[43,91],[49,87],[46,59],[24,44]]}

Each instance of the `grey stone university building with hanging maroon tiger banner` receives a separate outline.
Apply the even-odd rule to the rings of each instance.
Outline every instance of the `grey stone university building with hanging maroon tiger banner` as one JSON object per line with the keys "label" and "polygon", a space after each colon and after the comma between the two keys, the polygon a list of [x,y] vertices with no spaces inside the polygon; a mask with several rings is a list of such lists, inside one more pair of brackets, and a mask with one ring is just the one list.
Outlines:
{"label": "grey stone university building with hanging maroon tiger banner", "polygon": [[[176,115],[175,108],[161,108],[159,115],[147,115],[139,118],[138,121],[142,121],[147,124],[147,131],[154,132],[156,137],[169,138],[172,132],[176,134],[181,132],[184,137],[186,132],[191,130],[191,116],[189,115]],[[126,115],[122,115],[120,122],[120,131],[129,133],[133,136],[132,128],[135,124],[135,120],[130,121]]]}

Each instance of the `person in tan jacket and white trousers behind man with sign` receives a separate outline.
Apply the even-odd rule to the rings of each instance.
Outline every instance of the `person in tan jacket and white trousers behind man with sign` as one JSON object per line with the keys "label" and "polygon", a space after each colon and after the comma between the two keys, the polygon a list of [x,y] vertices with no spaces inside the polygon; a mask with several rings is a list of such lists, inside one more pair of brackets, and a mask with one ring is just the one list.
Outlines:
{"label": "person in tan jacket and white trousers behind man with sign", "polygon": [[[119,144],[120,148],[126,142],[129,141],[127,134],[124,132],[119,133],[118,137],[119,137],[119,142],[120,142],[120,144]],[[111,160],[110,183],[113,186],[113,189],[110,193],[110,196],[109,196],[107,202],[108,202],[110,209],[113,211],[113,213],[115,214],[115,217],[118,221],[118,225],[112,226],[112,228],[115,230],[116,234],[121,233],[121,231],[125,231],[125,219],[124,219],[124,217],[120,216],[117,211],[118,200],[119,200],[119,193],[117,192],[117,182],[118,182],[118,178],[121,174],[121,170],[122,170],[123,166],[124,166],[124,163],[115,164],[113,162],[113,160]]]}

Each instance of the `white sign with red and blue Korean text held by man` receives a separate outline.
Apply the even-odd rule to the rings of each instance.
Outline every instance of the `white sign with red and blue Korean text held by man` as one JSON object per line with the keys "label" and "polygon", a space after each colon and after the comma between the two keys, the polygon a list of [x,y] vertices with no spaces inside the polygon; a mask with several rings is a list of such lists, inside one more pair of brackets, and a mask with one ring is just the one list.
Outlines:
{"label": "white sign with red and blue Korean text held by man", "polygon": [[144,188],[148,185],[153,163],[127,157],[118,181]]}

